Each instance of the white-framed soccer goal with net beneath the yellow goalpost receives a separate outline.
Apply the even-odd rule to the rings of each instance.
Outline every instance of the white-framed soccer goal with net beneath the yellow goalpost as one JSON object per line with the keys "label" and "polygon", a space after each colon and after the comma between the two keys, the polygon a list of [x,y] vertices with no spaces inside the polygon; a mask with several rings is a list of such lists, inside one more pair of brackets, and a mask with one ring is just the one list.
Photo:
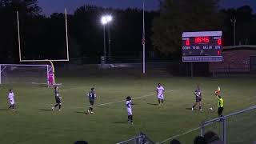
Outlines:
{"label": "white-framed soccer goal with net beneath the yellow goalpost", "polygon": [[50,65],[0,64],[0,84],[49,84],[53,67]]}

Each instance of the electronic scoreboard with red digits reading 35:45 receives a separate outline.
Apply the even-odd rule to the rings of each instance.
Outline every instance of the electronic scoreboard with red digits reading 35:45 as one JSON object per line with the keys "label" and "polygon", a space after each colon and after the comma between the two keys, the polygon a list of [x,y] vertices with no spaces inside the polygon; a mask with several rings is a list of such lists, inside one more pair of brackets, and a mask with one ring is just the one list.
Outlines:
{"label": "electronic scoreboard with red digits reading 35:45", "polygon": [[222,62],[222,31],[184,32],[182,62]]}

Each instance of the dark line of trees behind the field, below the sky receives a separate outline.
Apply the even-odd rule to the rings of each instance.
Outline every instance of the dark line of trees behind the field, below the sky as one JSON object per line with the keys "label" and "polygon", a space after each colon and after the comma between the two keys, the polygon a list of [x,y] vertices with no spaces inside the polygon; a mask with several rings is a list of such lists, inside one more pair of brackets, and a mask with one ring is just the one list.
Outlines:
{"label": "dark line of trees behind the field, below the sky", "polygon": [[[18,62],[19,13],[22,58],[66,58],[65,14],[42,14],[37,0],[0,2],[0,60]],[[63,9],[64,11],[64,9]],[[68,14],[70,58],[103,55],[102,14],[112,14],[111,55],[126,58],[142,54],[142,10],[80,6]],[[183,31],[222,30],[224,46],[256,44],[256,15],[250,6],[220,9],[218,0],[165,0],[159,10],[146,11],[146,54],[148,57],[181,56]],[[106,29],[106,40],[108,34]],[[107,44],[106,44],[106,48]]]}

